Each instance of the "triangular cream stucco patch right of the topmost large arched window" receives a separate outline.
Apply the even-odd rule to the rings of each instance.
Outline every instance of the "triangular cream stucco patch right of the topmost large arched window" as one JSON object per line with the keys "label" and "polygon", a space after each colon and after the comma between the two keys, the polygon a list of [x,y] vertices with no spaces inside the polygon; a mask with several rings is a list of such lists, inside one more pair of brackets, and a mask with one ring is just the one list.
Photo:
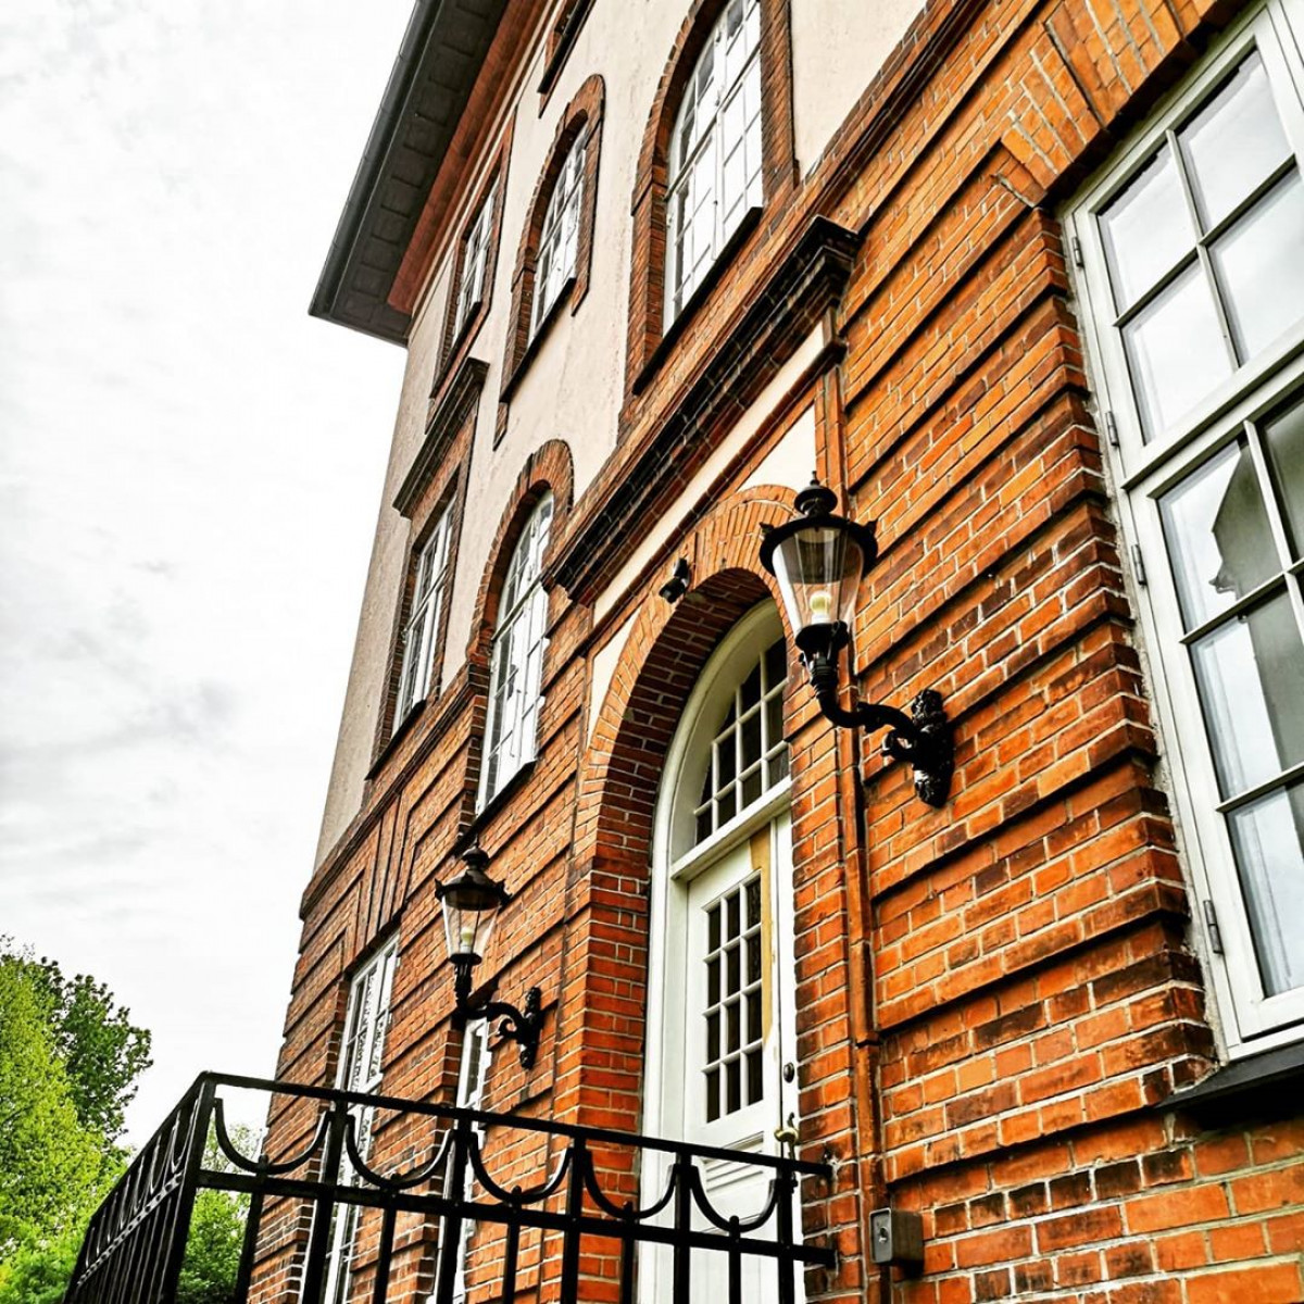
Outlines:
{"label": "triangular cream stucco patch right of the topmost large arched window", "polygon": [[792,0],[793,129],[803,175],[922,8],[921,0]]}

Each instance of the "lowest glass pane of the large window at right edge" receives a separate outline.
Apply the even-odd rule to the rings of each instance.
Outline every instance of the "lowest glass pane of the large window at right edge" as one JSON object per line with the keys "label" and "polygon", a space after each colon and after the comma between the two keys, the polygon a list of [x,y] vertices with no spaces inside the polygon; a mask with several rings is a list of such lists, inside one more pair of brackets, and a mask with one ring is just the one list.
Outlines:
{"label": "lowest glass pane of the large window at right edge", "polygon": [[1231,832],[1264,988],[1304,986],[1304,784],[1236,811]]}

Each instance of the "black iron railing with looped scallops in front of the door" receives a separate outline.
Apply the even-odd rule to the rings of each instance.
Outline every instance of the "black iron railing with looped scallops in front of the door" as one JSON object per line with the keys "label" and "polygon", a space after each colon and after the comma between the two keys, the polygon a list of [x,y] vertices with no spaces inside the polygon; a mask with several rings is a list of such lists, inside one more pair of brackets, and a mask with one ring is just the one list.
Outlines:
{"label": "black iron railing with looped scallops in front of the door", "polygon": [[[310,1140],[284,1158],[241,1154],[227,1131],[223,1089],[287,1097],[288,1107],[312,1110],[296,1128]],[[382,1138],[373,1145],[385,1128],[400,1144],[386,1148]],[[387,1150],[391,1158],[385,1158]],[[213,1162],[215,1153],[219,1163]],[[531,1185],[518,1180],[523,1154],[526,1166],[542,1164]],[[703,1180],[708,1164],[763,1178],[763,1206],[748,1215],[716,1208]],[[664,1184],[659,1180],[653,1194],[639,1196],[640,1174],[645,1184],[651,1171],[662,1172]],[[490,1232],[488,1249],[475,1251],[471,1299],[511,1304],[518,1282],[533,1295],[542,1274],[556,1271],[559,1297],[574,1304],[597,1262],[602,1297],[610,1297],[614,1283],[622,1304],[632,1304],[638,1254],[647,1247],[643,1252],[656,1256],[657,1297],[669,1304],[695,1297],[694,1262],[700,1254],[722,1266],[698,1275],[698,1297],[707,1297],[700,1287],[709,1277],[725,1288],[724,1297],[715,1297],[720,1287],[712,1287],[711,1304],[742,1304],[745,1273],[755,1282],[759,1270],[767,1297],[795,1304],[802,1267],[833,1260],[828,1248],[806,1245],[794,1224],[798,1183],[829,1176],[824,1164],[781,1155],[203,1073],[95,1213],[65,1301],[173,1304],[197,1193],[216,1188],[248,1196],[232,1288],[237,1304],[319,1304],[327,1290],[349,1304],[400,1297],[452,1304],[463,1297],[466,1261],[458,1248],[469,1226],[481,1228],[477,1241]],[[613,1187],[634,1194],[622,1198]],[[424,1219],[432,1235],[407,1237],[396,1249],[404,1214]],[[287,1235],[287,1227],[300,1231]],[[536,1245],[523,1265],[527,1228],[559,1237],[559,1254],[546,1256]],[[596,1258],[588,1249],[582,1253],[582,1243],[592,1247],[591,1239],[608,1247]],[[393,1270],[403,1254],[409,1262],[399,1286]],[[413,1254],[425,1260],[417,1269],[420,1287],[412,1284]],[[528,1281],[519,1281],[523,1277]]]}

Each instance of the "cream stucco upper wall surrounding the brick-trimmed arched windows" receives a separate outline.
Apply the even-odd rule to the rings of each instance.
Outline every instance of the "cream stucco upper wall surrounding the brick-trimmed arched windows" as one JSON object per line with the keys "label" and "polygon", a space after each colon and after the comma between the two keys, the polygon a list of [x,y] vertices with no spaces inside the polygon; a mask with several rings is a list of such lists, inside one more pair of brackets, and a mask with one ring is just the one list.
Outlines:
{"label": "cream stucco upper wall surrounding the brick-trimmed arched windows", "polygon": [[[805,170],[824,149],[918,5],[914,0],[875,4],[866,0],[795,0],[792,8],[794,119],[798,156]],[[471,506],[464,516],[458,572],[450,593],[445,679],[455,674],[466,660],[481,576],[526,458],[548,439],[565,441],[574,459],[578,497],[615,445],[625,376],[630,197],[647,116],[686,10],[687,0],[597,0],[542,112],[536,87],[542,72],[542,37],[552,20],[541,22],[536,57],[523,68],[506,96],[506,107],[490,133],[490,143],[468,172],[463,186],[449,228],[452,240],[472,215],[469,207],[511,123],[511,158],[503,192],[494,283],[488,310],[471,346],[472,356],[488,364],[488,377],[469,466],[466,468]],[[512,394],[505,438],[494,447],[511,275],[526,211],[558,121],[592,73],[604,80],[605,112],[588,295],[574,314],[567,306],[552,323]],[[395,613],[409,552],[408,523],[391,502],[425,433],[426,403],[449,293],[451,246],[450,243],[436,261],[408,342],[408,365],[322,820],[318,861],[357,814],[374,750]],[[728,446],[712,458],[712,466],[721,464],[721,459],[728,463],[746,438],[745,426],[751,428],[765,415],[764,403],[758,404],[739,422]],[[810,460],[805,443],[801,460]],[[803,466],[802,475],[808,475],[808,471],[810,467]],[[639,556],[645,552],[640,549]],[[614,593],[608,595],[609,601],[614,597]]]}

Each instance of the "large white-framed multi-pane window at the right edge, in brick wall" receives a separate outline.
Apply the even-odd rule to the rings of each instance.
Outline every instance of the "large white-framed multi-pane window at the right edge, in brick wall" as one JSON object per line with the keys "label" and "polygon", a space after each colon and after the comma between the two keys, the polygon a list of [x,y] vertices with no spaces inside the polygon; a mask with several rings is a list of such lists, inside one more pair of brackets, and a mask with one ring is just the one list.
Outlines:
{"label": "large white-framed multi-pane window at the right edge, in brick wall", "polygon": [[1304,68],[1290,13],[1248,17],[1071,215],[1200,927],[1245,1047],[1304,1020]]}

